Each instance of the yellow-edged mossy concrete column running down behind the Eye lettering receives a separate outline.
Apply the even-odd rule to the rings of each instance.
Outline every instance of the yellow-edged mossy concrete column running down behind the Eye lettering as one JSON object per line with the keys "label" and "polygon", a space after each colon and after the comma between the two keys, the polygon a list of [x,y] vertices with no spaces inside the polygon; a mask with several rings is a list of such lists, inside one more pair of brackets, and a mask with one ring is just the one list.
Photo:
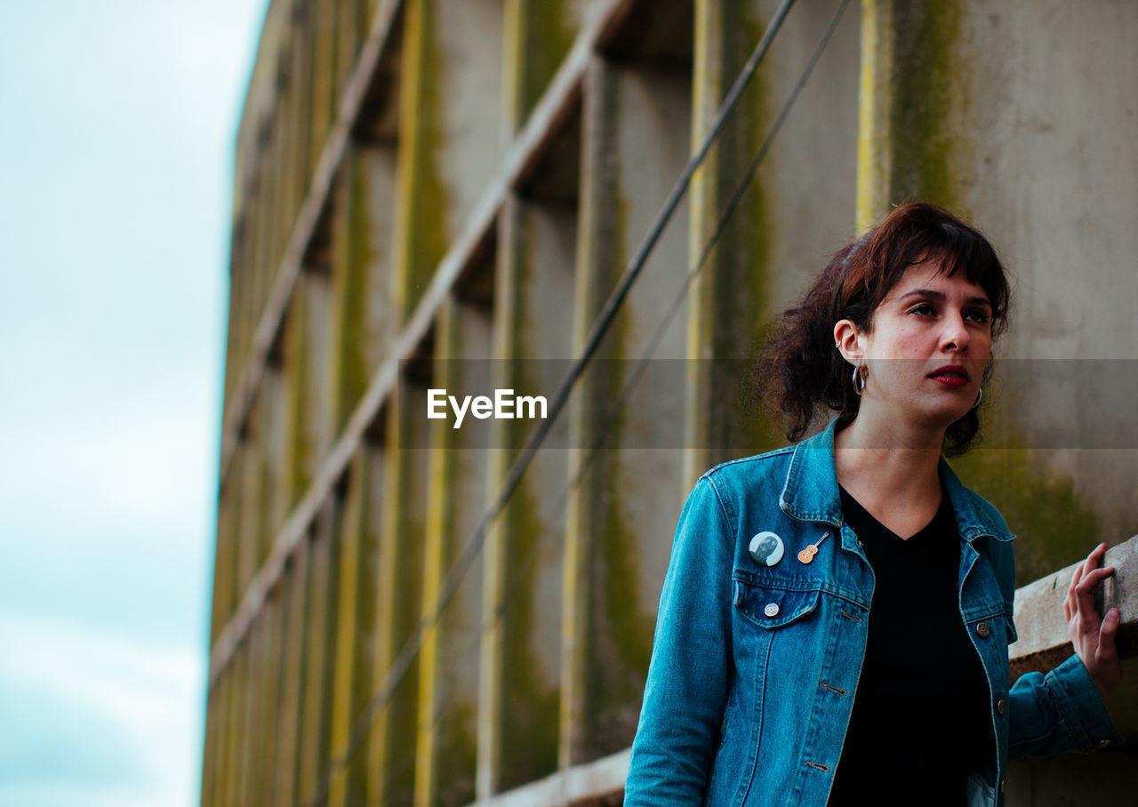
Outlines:
{"label": "yellow-edged mossy concrete column running down behind the Eye lettering", "polygon": [[[489,311],[455,298],[439,312],[434,388],[461,395],[488,380]],[[461,390],[461,392],[460,392]],[[430,425],[422,617],[434,619],[442,586],[486,507],[485,421],[454,429]],[[478,709],[478,629],[481,563],[467,573],[442,617],[423,634],[419,656],[417,807],[454,806],[475,797]]]}

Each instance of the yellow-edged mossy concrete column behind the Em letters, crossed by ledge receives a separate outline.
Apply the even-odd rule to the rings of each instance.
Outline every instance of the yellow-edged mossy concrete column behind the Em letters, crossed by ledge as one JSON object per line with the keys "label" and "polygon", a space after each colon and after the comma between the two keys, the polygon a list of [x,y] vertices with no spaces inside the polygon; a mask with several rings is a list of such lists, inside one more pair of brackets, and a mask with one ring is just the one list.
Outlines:
{"label": "yellow-edged mossy concrete column behind the Em letters, crossed by ledge", "polygon": [[[505,6],[503,138],[526,121],[569,52],[584,2],[509,0]],[[508,197],[498,215],[495,388],[553,390],[571,357],[579,121],[556,135],[554,182]],[[547,439],[564,445],[567,418]],[[495,422],[490,495],[533,428]],[[509,446],[509,447],[508,447]],[[566,454],[546,448],[487,536],[479,676],[478,797],[510,790],[558,766],[561,684],[561,496]]]}

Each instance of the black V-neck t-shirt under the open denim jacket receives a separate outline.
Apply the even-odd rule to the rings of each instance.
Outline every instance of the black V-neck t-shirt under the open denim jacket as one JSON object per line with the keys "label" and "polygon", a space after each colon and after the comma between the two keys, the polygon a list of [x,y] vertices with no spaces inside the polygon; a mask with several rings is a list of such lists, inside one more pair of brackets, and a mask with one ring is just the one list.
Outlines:
{"label": "black V-neck t-shirt under the open denim jacket", "polygon": [[841,491],[874,571],[865,664],[830,807],[965,804],[991,743],[988,681],[960,618],[960,538],[948,496],[902,540]]}

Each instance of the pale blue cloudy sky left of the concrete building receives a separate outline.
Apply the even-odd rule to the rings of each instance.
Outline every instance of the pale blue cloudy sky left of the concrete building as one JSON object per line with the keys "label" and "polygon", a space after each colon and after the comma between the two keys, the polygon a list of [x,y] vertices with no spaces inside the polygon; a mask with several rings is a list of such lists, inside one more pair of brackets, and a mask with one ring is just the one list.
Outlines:
{"label": "pale blue cloudy sky left of the concrete building", "polygon": [[0,2],[0,805],[198,804],[266,5]]}

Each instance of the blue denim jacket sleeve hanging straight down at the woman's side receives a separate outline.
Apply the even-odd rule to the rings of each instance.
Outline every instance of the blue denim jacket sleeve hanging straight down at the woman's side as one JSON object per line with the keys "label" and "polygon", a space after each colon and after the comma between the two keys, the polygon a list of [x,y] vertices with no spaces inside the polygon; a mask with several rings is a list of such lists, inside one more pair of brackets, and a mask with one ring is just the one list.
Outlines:
{"label": "blue denim jacket sleeve hanging straight down at the woman's side", "polygon": [[676,527],[625,807],[703,802],[727,698],[734,536],[715,485],[703,477]]}

